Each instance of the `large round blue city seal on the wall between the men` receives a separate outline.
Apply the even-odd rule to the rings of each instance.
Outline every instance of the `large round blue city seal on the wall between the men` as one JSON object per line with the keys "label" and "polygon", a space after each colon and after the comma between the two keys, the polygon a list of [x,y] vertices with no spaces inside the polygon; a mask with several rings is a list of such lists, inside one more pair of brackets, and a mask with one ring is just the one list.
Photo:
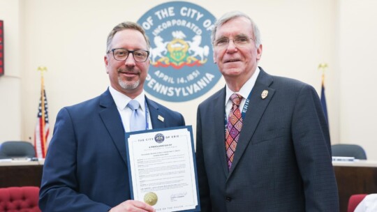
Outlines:
{"label": "large round blue city seal on the wall between the men", "polygon": [[205,8],[186,1],[162,3],[140,17],[138,24],[151,40],[147,93],[184,102],[219,82],[211,42],[215,20]]}

